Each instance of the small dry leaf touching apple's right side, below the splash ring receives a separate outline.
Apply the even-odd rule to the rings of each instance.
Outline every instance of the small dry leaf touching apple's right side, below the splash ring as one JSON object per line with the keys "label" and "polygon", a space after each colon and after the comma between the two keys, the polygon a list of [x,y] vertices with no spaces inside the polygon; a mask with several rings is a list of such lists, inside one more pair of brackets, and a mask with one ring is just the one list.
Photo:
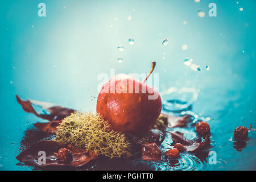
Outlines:
{"label": "small dry leaf touching apple's right side, below the splash ring", "polygon": [[181,116],[174,116],[174,115],[167,115],[167,114],[162,114],[162,115],[167,118],[167,122],[170,123],[171,128],[184,127],[184,126],[187,126],[187,123],[192,121],[192,115],[189,115],[189,114],[185,114]]}

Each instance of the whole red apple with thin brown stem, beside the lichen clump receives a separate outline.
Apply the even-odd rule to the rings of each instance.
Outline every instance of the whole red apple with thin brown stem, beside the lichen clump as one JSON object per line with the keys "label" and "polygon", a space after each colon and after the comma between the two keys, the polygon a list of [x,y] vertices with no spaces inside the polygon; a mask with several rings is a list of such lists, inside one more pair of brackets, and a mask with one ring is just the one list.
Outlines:
{"label": "whole red apple with thin brown stem, beside the lichen clump", "polygon": [[156,122],[162,110],[161,98],[158,91],[144,83],[154,67],[155,62],[143,82],[122,74],[102,86],[97,113],[108,120],[114,130],[143,136]]}

